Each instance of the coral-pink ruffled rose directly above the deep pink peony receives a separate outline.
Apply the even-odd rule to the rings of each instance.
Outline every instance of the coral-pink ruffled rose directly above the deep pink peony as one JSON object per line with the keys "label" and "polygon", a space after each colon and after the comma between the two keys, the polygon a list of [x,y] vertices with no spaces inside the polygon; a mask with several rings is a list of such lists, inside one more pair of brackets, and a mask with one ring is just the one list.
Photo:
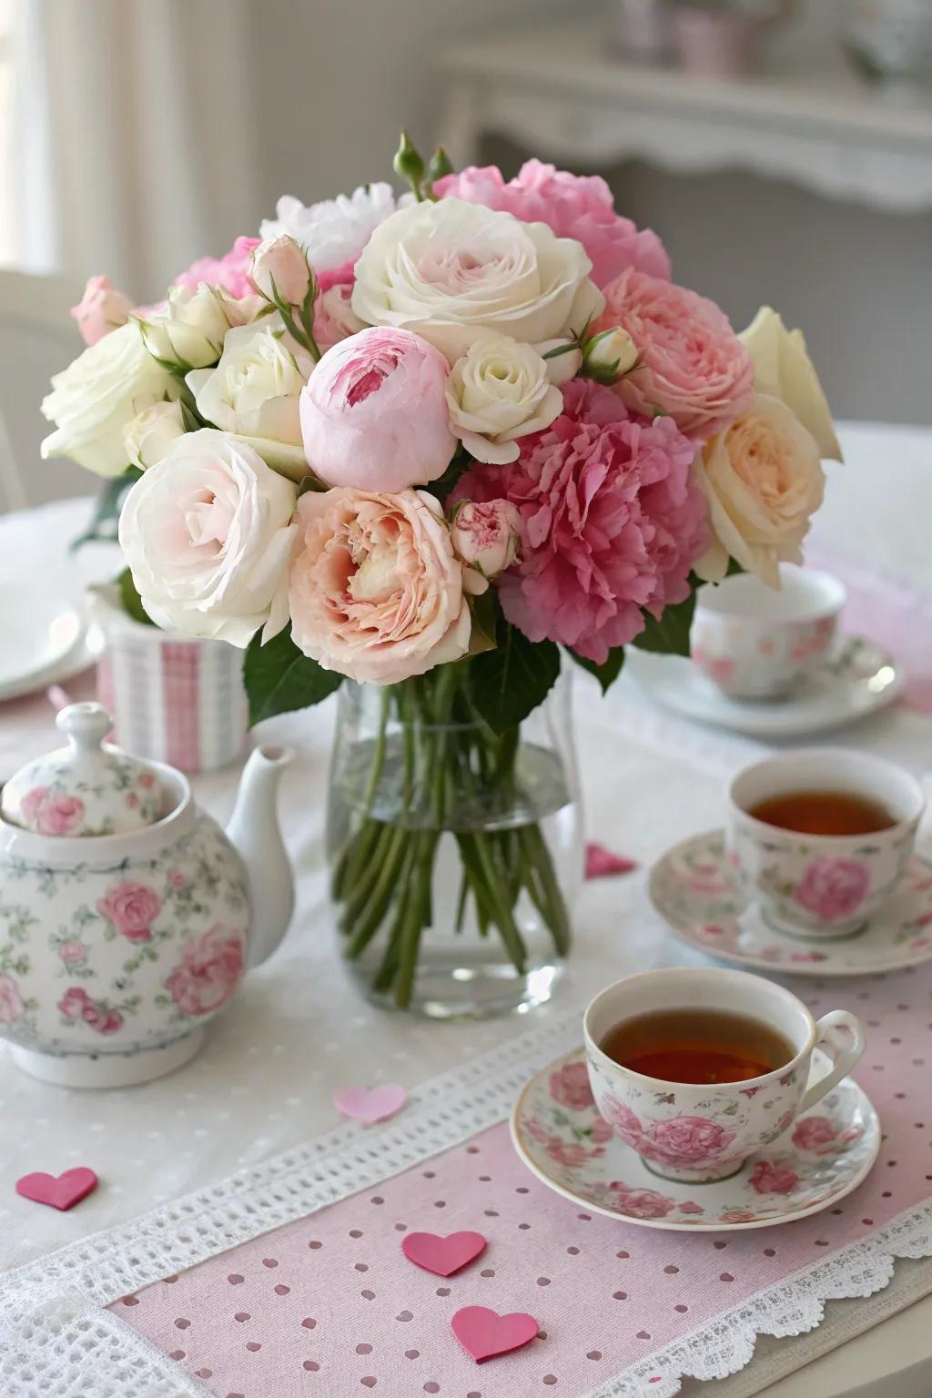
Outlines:
{"label": "coral-pink ruffled rose directly above the deep pink peony", "polygon": [[622,273],[605,296],[592,333],[620,326],[640,354],[615,390],[629,408],[647,417],[668,412],[680,432],[706,442],[750,404],[755,366],[713,301],[634,270]]}

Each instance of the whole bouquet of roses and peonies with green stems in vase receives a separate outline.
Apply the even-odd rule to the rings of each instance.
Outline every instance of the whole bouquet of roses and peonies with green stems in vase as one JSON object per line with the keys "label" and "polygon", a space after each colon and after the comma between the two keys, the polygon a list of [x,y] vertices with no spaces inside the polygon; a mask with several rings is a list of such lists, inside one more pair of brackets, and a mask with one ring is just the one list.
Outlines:
{"label": "whole bouquet of roses and peonies with green stems in vase", "polygon": [[566,658],[606,689],[629,644],[686,654],[700,580],[778,586],[840,453],[802,334],[735,334],[604,180],[407,137],[394,168],[402,197],[285,197],[155,306],[92,278],[42,407],[43,454],[123,496],[127,605],[243,647],[253,721],[380,686],[333,889],[407,1005],[443,836],[457,928],[518,979],[521,909],[566,952],[521,724]]}

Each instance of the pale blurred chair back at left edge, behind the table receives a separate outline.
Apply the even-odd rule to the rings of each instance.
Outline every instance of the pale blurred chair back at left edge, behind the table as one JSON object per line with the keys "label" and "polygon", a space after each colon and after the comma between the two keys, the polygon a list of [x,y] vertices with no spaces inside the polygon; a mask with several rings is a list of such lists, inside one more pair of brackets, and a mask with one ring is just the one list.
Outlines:
{"label": "pale blurred chair back at left edge, behind the table", "polygon": [[52,431],[39,411],[49,379],[81,351],[68,316],[80,295],[64,278],[0,271],[0,513],[94,491],[81,467],[39,457]]}

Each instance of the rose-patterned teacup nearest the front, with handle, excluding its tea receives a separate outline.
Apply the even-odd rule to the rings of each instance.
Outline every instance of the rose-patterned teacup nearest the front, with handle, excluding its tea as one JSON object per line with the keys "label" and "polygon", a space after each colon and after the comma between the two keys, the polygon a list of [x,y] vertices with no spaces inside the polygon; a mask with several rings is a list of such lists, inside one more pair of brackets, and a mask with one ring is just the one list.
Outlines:
{"label": "rose-patterned teacup nearest the front, with handle, excluding its tea", "polygon": [[[601,1048],[625,1019],[671,1009],[720,1009],[776,1029],[794,1048],[788,1062],[746,1082],[696,1085],[646,1078]],[[851,1047],[836,1051],[831,1071],[810,1079],[816,1044],[834,1048],[833,1030],[847,1030]],[[654,1174],[707,1184],[735,1174],[756,1151],[788,1131],[847,1076],[864,1053],[861,1021],[833,1009],[817,1022],[788,990],[741,970],[676,966],[627,976],[585,1011],[585,1061],[595,1106]]]}

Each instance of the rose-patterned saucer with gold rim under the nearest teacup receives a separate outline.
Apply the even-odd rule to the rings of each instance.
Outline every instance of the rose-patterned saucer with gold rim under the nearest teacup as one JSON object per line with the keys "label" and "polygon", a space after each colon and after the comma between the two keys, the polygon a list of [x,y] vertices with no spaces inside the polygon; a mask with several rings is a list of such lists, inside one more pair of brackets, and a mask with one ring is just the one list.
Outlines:
{"label": "rose-patterned saucer with gold rim under the nearest teacup", "polygon": [[[819,1048],[813,1062],[829,1068]],[[844,1198],[878,1158],[880,1123],[866,1093],[845,1078],[729,1180],[680,1184],[653,1174],[612,1135],[595,1110],[578,1047],[523,1089],[511,1141],[538,1180],[594,1213],[639,1227],[731,1233],[806,1218]]]}

